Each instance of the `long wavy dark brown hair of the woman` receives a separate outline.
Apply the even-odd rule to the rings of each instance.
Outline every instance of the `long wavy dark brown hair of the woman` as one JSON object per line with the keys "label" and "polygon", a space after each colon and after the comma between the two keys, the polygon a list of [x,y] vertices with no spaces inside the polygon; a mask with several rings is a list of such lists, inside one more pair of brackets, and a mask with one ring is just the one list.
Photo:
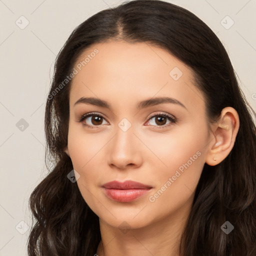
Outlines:
{"label": "long wavy dark brown hair of the woman", "polygon": [[[240,127],[232,150],[219,164],[204,164],[179,249],[182,256],[255,256],[255,112],[214,32],[190,11],[159,0],[126,1],[99,11],[73,30],[58,53],[45,109],[49,173],[30,196],[34,221],[28,255],[92,256],[96,252],[101,238],[98,217],[77,183],[67,178],[73,169],[64,152],[71,80],[62,82],[88,46],[114,39],[151,43],[187,64],[205,97],[209,121],[226,106],[238,112]],[[234,226],[229,234],[220,228],[225,221]]]}

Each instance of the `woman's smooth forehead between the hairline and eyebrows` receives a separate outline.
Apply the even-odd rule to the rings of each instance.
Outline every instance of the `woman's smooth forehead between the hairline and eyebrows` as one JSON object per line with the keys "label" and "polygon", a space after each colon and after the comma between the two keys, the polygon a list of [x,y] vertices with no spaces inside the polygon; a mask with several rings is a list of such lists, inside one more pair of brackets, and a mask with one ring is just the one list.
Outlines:
{"label": "woman's smooth forehead between the hairline and eyebrows", "polygon": [[191,103],[202,99],[192,70],[165,49],[145,42],[95,43],[80,54],[74,67],[78,72],[72,79],[70,104],[86,95],[125,100],[157,94]]}

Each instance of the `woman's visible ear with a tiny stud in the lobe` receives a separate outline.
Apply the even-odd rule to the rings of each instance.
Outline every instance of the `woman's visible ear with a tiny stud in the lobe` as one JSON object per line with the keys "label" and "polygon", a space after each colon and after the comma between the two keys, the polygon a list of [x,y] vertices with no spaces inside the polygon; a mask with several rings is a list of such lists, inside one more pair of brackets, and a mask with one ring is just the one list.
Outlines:
{"label": "woman's visible ear with a tiny stud in the lobe", "polygon": [[219,120],[213,126],[214,138],[209,143],[205,159],[212,166],[225,159],[233,148],[239,128],[238,113],[230,106],[223,108]]}

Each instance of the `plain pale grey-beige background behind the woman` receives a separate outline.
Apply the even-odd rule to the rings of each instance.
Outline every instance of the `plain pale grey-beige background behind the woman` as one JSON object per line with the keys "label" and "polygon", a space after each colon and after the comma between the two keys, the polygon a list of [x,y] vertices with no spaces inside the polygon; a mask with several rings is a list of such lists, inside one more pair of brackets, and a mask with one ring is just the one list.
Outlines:
{"label": "plain pale grey-beige background behind the woman", "polygon": [[[31,226],[28,197],[46,175],[43,119],[55,56],[76,25],[120,2],[0,0],[0,256],[27,255],[29,230],[25,230],[26,224]],[[256,1],[169,2],[192,11],[217,34],[227,49],[242,90],[256,109]],[[26,20],[21,15],[29,21],[23,29],[20,26]],[[232,21],[224,18],[226,15],[234,21],[229,29],[224,26]],[[28,123],[23,130],[18,122],[21,118]]]}

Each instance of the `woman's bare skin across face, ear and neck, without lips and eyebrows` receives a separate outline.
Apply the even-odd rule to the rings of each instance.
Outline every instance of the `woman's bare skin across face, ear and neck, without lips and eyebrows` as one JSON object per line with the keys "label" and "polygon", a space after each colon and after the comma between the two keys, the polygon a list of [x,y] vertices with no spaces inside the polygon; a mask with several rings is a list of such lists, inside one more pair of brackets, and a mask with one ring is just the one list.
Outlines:
{"label": "woman's bare skin across face, ear and neck, without lips and eyebrows", "polygon": [[[142,42],[109,41],[91,45],[77,63],[95,48],[99,52],[72,80],[65,152],[80,175],[77,184],[84,200],[99,217],[97,254],[177,256],[203,165],[215,165],[228,155],[239,127],[238,114],[231,107],[224,108],[209,130],[204,96],[194,85],[192,70],[164,49]],[[177,80],[169,75],[174,67],[182,71]],[[163,103],[136,109],[141,100],[163,96],[173,97],[185,107]],[[111,109],[74,105],[81,97],[106,100]],[[93,122],[95,116],[77,122],[92,111],[104,117],[101,124]],[[160,113],[173,115],[177,122],[163,117],[166,126],[158,128],[157,116],[147,120],[150,114]],[[118,126],[123,118],[131,124],[126,131]],[[196,152],[200,155],[166,185]],[[117,202],[101,187],[111,180],[134,180],[152,189],[134,201]],[[164,184],[165,190],[150,201],[149,196]]]}

